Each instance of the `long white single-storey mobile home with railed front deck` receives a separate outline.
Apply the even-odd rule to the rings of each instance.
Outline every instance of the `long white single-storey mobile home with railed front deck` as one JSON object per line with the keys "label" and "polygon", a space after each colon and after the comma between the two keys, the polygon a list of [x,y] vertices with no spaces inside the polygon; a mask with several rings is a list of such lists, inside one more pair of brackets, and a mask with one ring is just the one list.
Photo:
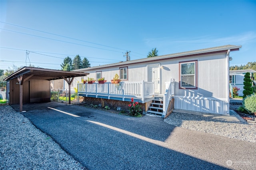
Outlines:
{"label": "long white single-storey mobile home with railed front deck", "polygon": [[111,83],[78,84],[78,93],[122,101],[134,97],[141,103],[158,96],[164,101],[162,117],[166,117],[172,98],[175,109],[229,114],[229,55],[241,47],[226,45],[74,70],[87,72],[87,77],[96,80],[104,77],[107,82],[118,74],[123,82],[115,90]]}

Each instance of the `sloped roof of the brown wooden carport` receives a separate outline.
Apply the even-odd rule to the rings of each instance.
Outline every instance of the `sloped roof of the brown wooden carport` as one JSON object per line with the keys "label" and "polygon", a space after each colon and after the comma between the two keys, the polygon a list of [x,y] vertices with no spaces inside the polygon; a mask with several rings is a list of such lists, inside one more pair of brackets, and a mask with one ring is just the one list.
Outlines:
{"label": "sloped roof of the brown wooden carport", "polygon": [[84,72],[72,72],[72,71],[62,71],[62,70],[52,70],[46,68],[35,68],[35,67],[23,67],[20,70],[14,72],[10,76],[6,77],[4,80],[12,80],[21,75],[26,75],[30,79],[44,79],[44,80],[58,80],[62,78],[72,78],[87,76],[89,73]]}

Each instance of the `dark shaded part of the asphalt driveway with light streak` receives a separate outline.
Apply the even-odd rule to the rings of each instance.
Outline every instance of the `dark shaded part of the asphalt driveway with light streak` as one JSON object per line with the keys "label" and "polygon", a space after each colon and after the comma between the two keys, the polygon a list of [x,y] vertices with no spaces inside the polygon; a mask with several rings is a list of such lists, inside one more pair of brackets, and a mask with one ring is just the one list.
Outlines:
{"label": "dark shaded part of the asphalt driveway with light streak", "polygon": [[88,169],[228,169],[170,149],[172,145],[165,141],[175,126],[159,117],[134,118],[57,102],[24,104],[23,108],[22,114],[34,126]]}

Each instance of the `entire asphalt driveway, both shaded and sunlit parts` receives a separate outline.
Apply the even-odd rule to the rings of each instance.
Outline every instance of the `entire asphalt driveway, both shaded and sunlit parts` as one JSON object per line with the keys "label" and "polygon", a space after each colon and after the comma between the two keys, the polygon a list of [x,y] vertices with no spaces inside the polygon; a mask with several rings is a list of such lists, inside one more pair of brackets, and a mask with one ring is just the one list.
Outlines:
{"label": "entire asphalt driveway, both shaded and sunlit parts", "polygon": [[[54,108],[54,109],[52,109]],[[93,170],[256,169],[256,144],[56,102],[24,104],[23,115]]]}

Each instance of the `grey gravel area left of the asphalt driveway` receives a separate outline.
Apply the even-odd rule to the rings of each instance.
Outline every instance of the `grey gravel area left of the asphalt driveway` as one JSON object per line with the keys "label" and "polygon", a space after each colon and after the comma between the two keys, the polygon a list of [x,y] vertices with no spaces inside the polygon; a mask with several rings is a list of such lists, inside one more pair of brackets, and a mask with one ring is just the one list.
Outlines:
{"label": "grey gravel area left of the asphalt driveway", "polygon": [[86,169],[11,106],[0,106],[0,170]]}

